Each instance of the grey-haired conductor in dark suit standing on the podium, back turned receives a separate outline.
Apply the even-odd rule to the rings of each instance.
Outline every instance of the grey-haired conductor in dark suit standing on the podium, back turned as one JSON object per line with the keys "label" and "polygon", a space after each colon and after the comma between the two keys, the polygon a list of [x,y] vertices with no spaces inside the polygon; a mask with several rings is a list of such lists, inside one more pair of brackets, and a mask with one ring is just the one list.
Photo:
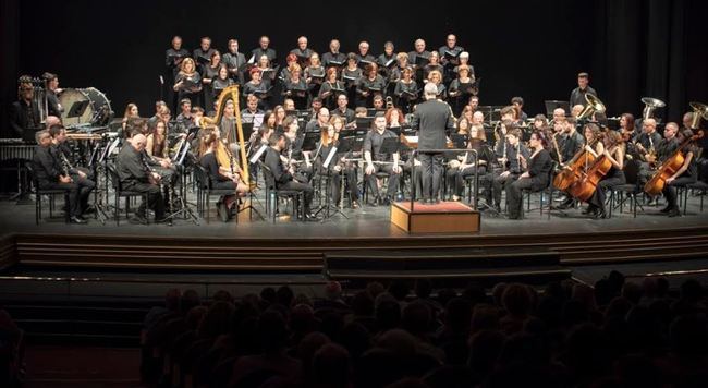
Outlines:
{"label": "grey-haired conductor in dark suit standing on the podium, back turned", "polygon": [[448,104],[437,99],[438,87],[428,83],[423,89],[425,102],[418,104],[413,113],[411,126],[418,131],[418,154],[423,180],[422,203],[439,203],[442,181],[442,149],[445,148],[445,133],[454,128],[454,118]]}

